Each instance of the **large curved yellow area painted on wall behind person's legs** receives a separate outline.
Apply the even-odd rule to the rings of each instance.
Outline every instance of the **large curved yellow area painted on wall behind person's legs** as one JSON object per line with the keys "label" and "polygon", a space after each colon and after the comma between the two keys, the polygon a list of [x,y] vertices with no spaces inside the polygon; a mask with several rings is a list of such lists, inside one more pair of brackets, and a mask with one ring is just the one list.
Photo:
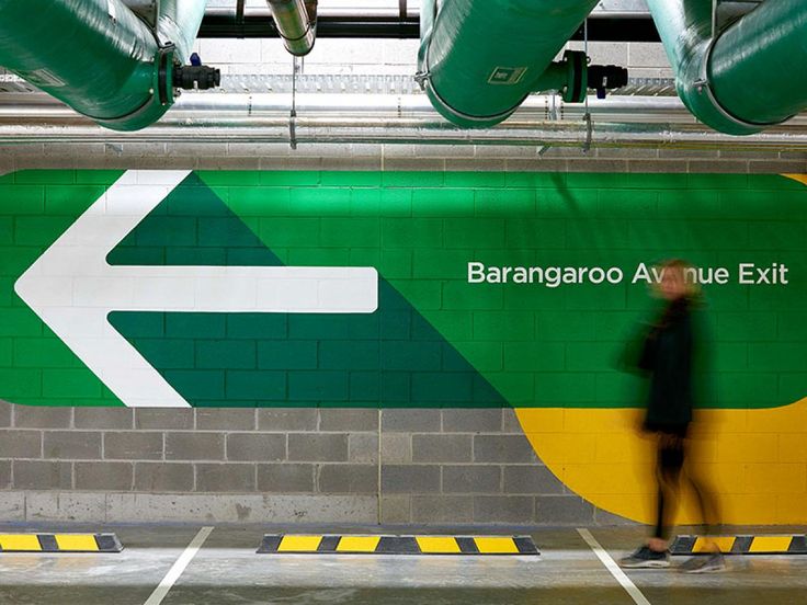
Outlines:
{"label": "large curved yellow area painted on wall behind person's legs", "polygon": [[[655,521],[656,449],[637,430],[641,410],[515,413],[538,458],[569,490],[616,515]],[[807,399],[766,410],[702,410],[693,426],[690,468],[717,495],[723,523],[807,523]],[[675,522],[703,522],[691,494]]]}

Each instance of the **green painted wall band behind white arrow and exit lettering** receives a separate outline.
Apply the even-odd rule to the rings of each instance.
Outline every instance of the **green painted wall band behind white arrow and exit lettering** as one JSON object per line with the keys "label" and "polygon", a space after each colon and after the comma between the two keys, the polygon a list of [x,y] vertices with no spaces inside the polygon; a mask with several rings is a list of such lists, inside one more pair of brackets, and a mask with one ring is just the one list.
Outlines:
{"label": "green painted wall band behind white arrow and exit lettering", "polygon": [[[0,397],[121,404],[13,284],[120,172],[0,178]],[[807,395],[807,187],[777,175],[198,172],[112,265],[374,266],[370,315],[112,312],[193,406],[630,407],[615,362],[651,312],[639,263],[704,287],[720,408]],[[467,263],[618,267],[618,284],[470,284]],[[743,285],[738,265],[787,267]],[[769,273],[769,276],[772,273]]]}

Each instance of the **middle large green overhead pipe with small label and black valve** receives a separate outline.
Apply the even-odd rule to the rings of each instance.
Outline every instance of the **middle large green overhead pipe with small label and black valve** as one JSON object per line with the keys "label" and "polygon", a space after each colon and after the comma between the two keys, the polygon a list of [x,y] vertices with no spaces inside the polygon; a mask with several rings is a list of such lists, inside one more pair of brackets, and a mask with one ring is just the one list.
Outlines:
{"label": "middle large green overhead pipe with small label and black valve", "polygon": [[582,101],[586,56],[553,59],[596,2],[424,0],[418,79],[434,109],[465,127],[498,124],[531,92],[559,90],[566,101]]}

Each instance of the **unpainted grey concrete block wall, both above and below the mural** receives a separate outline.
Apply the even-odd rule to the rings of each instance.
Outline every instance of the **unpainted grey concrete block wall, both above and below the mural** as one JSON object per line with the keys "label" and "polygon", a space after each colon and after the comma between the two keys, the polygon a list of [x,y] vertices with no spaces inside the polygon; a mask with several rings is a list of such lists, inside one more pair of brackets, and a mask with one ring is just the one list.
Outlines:
{"label": "unpainted grey concrete block wall, both above and below the mural", "polygon": [[[372,45],[372,47],[371,47]],[[378,72],[377,43],[319,41],[307,72]],[[417,42],[380,45],[413,73]],[[202,41],[225,73],[291,72],[279,41]],[[669,77],[659,45],[592,43],[594,61]],[[54,169],[807,172],[807,152],[500,146],[36,144],[0,173]],[[0,344],[0,357],[5,354]],[[512,410],[25,408],[0,403],[0,518],[361,524],[591,524]]]}

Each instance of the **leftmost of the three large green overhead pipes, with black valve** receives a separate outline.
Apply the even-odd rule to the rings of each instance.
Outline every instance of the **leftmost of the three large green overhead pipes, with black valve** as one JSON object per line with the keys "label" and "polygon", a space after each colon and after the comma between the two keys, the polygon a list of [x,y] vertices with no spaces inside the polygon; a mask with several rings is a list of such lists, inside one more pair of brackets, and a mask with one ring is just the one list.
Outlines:
{"label": "leftmost of the three large green overhead pipes, with black valve", "polygon": [[0,0],[0,65],[103,126],[136,130],[173,103],[206,2],[162,0],[156,33],[122,0],[31,4]]}

